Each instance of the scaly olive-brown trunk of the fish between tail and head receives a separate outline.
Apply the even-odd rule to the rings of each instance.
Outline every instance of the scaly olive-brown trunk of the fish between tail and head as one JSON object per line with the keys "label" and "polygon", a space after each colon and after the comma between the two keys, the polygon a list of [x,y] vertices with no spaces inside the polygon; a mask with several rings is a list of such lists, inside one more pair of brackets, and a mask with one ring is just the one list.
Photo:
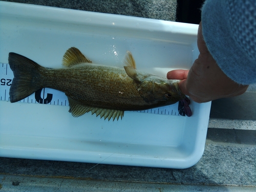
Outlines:
{"label": "scaly olive-brown trunk of the fish between tail and head", "polygon": [[41,87],[65,92],[90,106],[118,110],[140,110],[148,105],[138,93],[134,80],[124,69],[82,63],[68,69],[47,69]]}

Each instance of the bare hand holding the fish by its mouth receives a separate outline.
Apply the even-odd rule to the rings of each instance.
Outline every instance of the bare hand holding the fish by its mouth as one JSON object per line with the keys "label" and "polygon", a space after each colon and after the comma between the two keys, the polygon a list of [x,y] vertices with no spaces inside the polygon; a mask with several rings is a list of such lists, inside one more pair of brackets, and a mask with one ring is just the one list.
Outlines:
{"label": "bare hand holding the fish by its mouth", "polygon": [[200,54],[190,70],[169,71],[167,78],[180,79],[181,92],[199,103],[243,94],[248,86],[234,82],[226,76],[209,53],[203,39],[201,23],[197,44]]}

